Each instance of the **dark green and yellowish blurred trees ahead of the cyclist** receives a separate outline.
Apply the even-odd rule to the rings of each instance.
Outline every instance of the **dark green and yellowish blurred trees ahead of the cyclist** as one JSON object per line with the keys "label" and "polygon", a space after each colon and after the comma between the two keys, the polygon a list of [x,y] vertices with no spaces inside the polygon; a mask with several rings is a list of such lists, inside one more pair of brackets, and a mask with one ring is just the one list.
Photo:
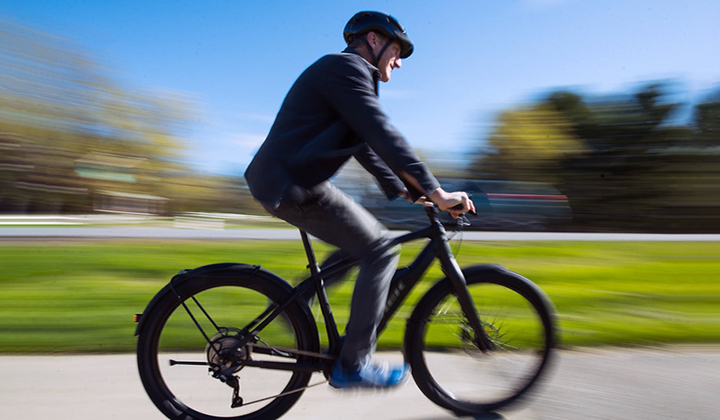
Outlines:
{"label": "dark green and yellowish blurred trees ahead of the cyclist", "polygon": [[720,94],[677,125],[667,92],[557,91],[503,112],[474,172],[556,184],[583,229],[720,231]]}

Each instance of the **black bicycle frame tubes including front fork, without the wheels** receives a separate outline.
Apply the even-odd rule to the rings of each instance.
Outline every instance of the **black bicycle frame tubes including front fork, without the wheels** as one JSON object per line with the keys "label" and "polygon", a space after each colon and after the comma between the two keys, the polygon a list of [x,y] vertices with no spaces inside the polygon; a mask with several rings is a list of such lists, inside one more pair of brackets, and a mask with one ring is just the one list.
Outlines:
{"label": "black bicycle frame tubes including front fork, without the wheels", "polygon": [[[438,219],[439,210],[436,207],[428,207],[426,208],[426,212],[431,221],[430,226],[396,237],[391,242],[391,246],[395,246],[422,238],[430,240],[410,265],[402,269],[398,269],[395,272],[388,292],[384,315],[377,329],[377,335],[379,336],[382,333],[387,326],[388,321],[395,315],[404,299],[413,287],[415,287],[415,285],[417,285],[420,281],[423,274],[425,274],[430,267],[430,264],[432,264],[432,262],[437,258],[443,272],[452,284],[453,290],[455,291],[460,306],[465,312],[465,316],[467,317],[471,328],[475,332],[477,340],[476,344],[482,351],[490,350],[492,349],[492,343],[482,328],[482,323],[478,317],[477,311],[475,310],[472,297],[467,290],[465,277],[463,276],[462,270],[458,266],[452,250],[450,249],[445,228]],[[335,323],[335,318],[330,308],[330,302],[325,292],[323,278],[330,277],[333,274],[340,273],[341,271],[352,267],[357,263],[357,260],[348,257],[320,269],[317,260],[315,259],[312,245],[310,244],[310,239],[308,238],[307,233],[302,230],[300,232],[308,258],[308,268],[311,272],[310,277],[306,278],[295,287],[295,292],[286,302],[274,309],[269,307],[265,313],[257,317],[250,325],[246,326],[244,330],[247,331],[247,335],[238,346],[242,347],[253,341],[254,337],[256,337],[257,334],[265,328],[265,326],[280,315],[280,313],[284,311],[288,305],[292,304],[310,287],[314,286],[322,316],[325,321],[329,348],[326,354],[313,354],[313,356],[321,359],[334,360],[340,352],[341,338],[338,332],[337,324]],[[273,350],[270,349],[269,351],[272,352]],[[259,367],[270,369],[287,368],[287,366],[283,363],[250,362],[248,365],[257,365]],[[291,369],[299,370],[307,368],[307,366],[298,367],[297,365],[294,365]],[[315,369],[310,369],[318,370],[317,366]]]}

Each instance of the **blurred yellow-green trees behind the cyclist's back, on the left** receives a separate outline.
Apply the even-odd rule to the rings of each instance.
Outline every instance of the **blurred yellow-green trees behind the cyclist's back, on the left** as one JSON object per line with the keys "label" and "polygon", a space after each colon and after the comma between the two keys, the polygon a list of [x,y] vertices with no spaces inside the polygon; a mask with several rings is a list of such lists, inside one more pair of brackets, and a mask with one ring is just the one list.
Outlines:
{"label": "blurred yellow-green trees behind the cyclist's back, on the left", "polygon": [[104,191],[160,197],[185,171],[188,101],[106,73],[65,40],[0,22],[0,211],[88,211]]}

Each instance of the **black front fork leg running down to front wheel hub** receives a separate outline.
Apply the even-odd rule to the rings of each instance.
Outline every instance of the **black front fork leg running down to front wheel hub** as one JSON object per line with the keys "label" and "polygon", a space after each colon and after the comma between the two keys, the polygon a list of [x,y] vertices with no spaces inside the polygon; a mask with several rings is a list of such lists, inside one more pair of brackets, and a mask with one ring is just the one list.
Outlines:
{"label": "black front fork leg running down to front wheel hub", "polygon": [[455,256],[450,249],[450,245],[447,241],[443,241],[440,246],[443,248],[438,252],[438,259],[442,267],[445,276],[450,280],[455,296],[457,297],[458,303],[462,308],[463,314],[470,324],[470,328],[475,333],[474,344],[483,353],[495,350],[495,344],[490,340],[490,336],[485,331],[480,315],[475,308],[475,303],[470,290],[467,287],[465,276],[462,273],[462,269],[455,260]]}

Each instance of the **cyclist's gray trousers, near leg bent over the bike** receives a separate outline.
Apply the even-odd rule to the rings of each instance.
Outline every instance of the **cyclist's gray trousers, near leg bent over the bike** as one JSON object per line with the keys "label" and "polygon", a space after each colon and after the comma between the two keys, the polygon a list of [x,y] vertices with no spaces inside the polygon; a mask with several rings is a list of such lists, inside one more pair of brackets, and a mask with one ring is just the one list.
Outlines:
{"label": "cyclist's gray trousers, near leg bent over the bike", "polygon": [[376,329],[400,258],[399,247],[389,247],[383,225],[329,182],[306,191],[303,197],[283,200],[276,208],[264,207],[360,260],[339,361],[346,369],[368,361],[375,351]]}

